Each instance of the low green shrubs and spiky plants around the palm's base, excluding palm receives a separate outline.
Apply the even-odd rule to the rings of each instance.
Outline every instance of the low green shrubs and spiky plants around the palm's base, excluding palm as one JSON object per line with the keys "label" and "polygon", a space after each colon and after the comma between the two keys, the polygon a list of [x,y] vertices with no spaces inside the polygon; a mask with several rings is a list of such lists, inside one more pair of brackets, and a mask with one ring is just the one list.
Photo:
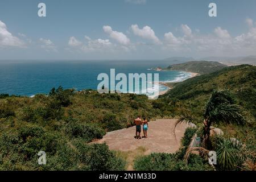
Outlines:
{"label": "low green shrubs and spiky plants around the palm's base, excluding palm", "polygon": [[[198,130],[187,128],[181,140],[182,147],[175,154],[153,153],[135,159],[134,168],[145,171],[209,171],[209,170],[255,170],[255,148],[242,144],[240,140],[228,138],[228,135],[212,137],[212,150],[217,152],[217,164],[210,166],[208,156],[200,153],[190,154],[187,151],[193,135]],[[255,147],[255,144],[254,144]],[[199,155],[198,155],[199,154]]]}

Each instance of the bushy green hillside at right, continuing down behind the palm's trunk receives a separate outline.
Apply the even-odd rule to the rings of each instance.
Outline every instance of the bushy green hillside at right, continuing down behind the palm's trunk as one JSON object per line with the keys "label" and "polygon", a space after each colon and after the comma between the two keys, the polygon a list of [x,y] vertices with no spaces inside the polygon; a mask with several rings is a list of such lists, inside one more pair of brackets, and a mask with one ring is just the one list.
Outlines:
{"label": "bushy green hillside at right, continuing down behind the palm's trunk", "polygon": [[256,151],[256,67],[252,65],[238,65],[223,68],[220,71],[190,78],[173,85],[174,88],[160,97],[175,115],[191,115],[195,123],[204,120],[205,104],[214,90],[226,90],[234,98],[232,104],[241,106],[245,115],[246,125],[214,123],[228,134],[227,137],[238,138]]}

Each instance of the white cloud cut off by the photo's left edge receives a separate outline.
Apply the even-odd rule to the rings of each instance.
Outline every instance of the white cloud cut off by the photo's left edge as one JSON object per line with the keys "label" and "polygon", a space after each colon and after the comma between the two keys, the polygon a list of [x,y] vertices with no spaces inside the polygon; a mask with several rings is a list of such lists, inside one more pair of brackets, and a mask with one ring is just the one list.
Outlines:
{"label": "white cloud cut off by the photo's left edge", "polygon": [[22,40],[13,36],[6,27],[6,24],[0,20],[0,47],[24,47]]}

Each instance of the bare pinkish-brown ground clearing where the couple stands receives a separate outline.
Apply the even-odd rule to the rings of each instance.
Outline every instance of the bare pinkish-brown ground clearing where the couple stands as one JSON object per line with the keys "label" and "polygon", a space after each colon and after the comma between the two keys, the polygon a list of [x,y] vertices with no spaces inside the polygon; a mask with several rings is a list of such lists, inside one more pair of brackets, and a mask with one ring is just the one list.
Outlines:
{"label": "bare pinkish-brown ground clearing where the couple stands", "polygon": [[[177,125],[174,138],[173,129],[177,119],[157,119],[148,123],[148,138],[135,139],[135,126],[128,129],[116,130],[107,133],[95,143],[108,144],[110,150],[133,151],[138,147],[146,149],[146,153],[166,152],[173,153],[179,150],[180,140],[184,135],[187,124]],[[141,133],[143,136],[143,130]]]}

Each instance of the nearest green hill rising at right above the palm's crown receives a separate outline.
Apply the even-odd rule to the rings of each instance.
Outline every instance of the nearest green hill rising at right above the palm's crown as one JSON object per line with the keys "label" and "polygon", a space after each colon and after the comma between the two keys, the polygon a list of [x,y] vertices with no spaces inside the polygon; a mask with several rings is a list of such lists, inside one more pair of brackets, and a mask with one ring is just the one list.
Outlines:
{"label": "nearest green hill rising at right above the palm's crown", "polygon": [[177,98],[188,104],[192,112],[203,110],[205,102],[213,90],[229,90],[237,98],[238,104],[245,107],[256,118],[256,67],[238,65],[220,71],[189,78],[174,84],[174,88],[162,97]]}

